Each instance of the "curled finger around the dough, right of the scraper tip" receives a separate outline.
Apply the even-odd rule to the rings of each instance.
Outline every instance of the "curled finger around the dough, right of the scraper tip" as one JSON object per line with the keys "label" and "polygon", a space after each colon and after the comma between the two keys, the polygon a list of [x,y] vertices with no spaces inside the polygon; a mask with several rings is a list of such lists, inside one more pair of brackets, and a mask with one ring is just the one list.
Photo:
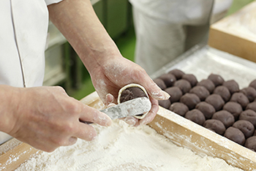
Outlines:
{"label": "curled finger around the dough, right of the scraper tip", "polygon": [[153,121],[154,117],[157,115],[157,111],[159,110],[157,99],[153,99],[152,97],[149,97],[149,98],[151,99],[151,110],[148,112],[145,118],[139,121],[140,125],[145,125]]}

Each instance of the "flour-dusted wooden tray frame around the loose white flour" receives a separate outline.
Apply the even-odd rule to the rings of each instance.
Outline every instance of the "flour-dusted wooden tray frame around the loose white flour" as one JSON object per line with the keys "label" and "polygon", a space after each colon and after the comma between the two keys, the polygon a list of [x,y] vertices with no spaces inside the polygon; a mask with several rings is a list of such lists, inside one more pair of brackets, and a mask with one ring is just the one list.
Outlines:
{"label": "flour-dusted wooden tray frame around the loose white flour", "polygon": [[[97,109],[103,107],[96,92],[81,99],[81,102]],[[156,118],[148,125],[176,145],[189,148],[201,156],[218,157],[244,170],[256,169],[255,152],[176,115],[170,110],[160,107]],[[40,152],[26,143],[12,139],[0,146],[0,170],[15,170],[24,161]]]}

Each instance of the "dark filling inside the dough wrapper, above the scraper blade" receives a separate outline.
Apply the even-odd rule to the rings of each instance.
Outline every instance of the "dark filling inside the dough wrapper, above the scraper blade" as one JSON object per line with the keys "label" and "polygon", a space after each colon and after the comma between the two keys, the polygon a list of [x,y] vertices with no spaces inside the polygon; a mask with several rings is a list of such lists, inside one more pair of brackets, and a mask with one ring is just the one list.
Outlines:
{"label": "dark filling inside the dough wrapper, above the scraper blade", "polygon": [[148,97],[141,88],[129,87],[129,88],[126,88],[124,91],[122,91],[121,96],[120,96],[120,103],[127,102],[131,99],[135,99],[135,98],[143,97],[143,96]]}

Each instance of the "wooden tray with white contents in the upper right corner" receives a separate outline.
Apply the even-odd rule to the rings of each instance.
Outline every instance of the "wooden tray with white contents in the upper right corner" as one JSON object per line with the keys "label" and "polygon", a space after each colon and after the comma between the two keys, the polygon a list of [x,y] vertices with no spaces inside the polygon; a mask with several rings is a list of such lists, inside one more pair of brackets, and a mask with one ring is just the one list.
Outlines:
{"label": "wooden tray with white contents in the upper right corner", "polygon": [[210,27],[208,45],[256,62],[256,1]]}

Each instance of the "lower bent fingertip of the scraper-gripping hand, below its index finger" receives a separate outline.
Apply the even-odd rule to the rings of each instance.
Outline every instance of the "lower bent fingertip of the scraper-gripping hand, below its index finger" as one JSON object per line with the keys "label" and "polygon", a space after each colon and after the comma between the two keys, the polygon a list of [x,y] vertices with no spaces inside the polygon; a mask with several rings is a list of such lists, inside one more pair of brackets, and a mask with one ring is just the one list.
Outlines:
{"label": "lower bent fingertip of the scraper-gripping hand, below its index finger", "polygon": [[97,132],[93,126],[80,122],[76,127],[74,136],[82,140],[91,141],[97,137]]}

